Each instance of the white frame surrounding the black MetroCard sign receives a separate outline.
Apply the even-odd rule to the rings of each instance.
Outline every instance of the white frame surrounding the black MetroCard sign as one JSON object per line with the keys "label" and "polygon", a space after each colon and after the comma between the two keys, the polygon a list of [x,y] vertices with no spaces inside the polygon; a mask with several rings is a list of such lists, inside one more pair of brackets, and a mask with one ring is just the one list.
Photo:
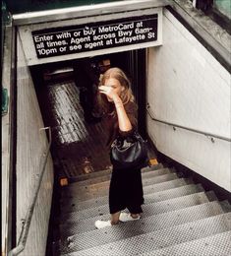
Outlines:
{"label": "white frame surrounding the black MetroCard sign", "polygon": [[[87,24],[103,24],[108,21],[117,21],[121,19],[132,20],[133,18],[141,17],[141,20],[145,16],[151,16],[157,14],[157,39],[155,41],[147,41],[142,43],[135,43],[131,45],[124,46],[116,46],[111,48],[102,48],[96,50],[88,50],[79,53],[70,53],[59,56],[50,56],[45,58],[37,58],[37,54],[34,47],[34,42],[32,38],[32,32],[39,32],[42,30],[65,30],[65,28],[69,27],[78,27],[78,26],[86,26]],[[96,55],[103,55],[121,51],[128,51],[140,48],[147,48],[152,46],[158,46],[162,44],[162,8],[151,8],[147,10],[140,11],[132,11],[126,13],[118,13],[111,15],[101,15],[96,17],[85,17],[76,20],[67,20],[53,23],[45,23],[45,24],[35,24],[35,25],[27,25],[19,28],[20,39],[23,41],[23,47],[26,54],[26,59],[29,66],[39,65],[44,63],[52,63],[64,60],[72,60],[84,57],[92,57]]]}

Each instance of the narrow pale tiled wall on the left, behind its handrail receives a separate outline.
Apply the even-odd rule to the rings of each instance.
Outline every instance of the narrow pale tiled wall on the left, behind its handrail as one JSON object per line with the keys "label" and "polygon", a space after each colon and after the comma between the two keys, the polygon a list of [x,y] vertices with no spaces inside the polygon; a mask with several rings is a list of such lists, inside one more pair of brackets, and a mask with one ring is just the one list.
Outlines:
{"label": "narrow pale tiled wall on the left, behind its handrail", "polygon": [[[38,174],[41,172],[42,154],[46,151],[47,139],[37,98],[26,64],[24,50],[18,37],[17,67],[17,239],[21,231],[21,220],[25,219],[29,201],[35,192]],[[29,228],[29,238],[22,256],[43,256],[50,216],[53,189],[53,164],[49,156],[46,170],[35,204]]]}

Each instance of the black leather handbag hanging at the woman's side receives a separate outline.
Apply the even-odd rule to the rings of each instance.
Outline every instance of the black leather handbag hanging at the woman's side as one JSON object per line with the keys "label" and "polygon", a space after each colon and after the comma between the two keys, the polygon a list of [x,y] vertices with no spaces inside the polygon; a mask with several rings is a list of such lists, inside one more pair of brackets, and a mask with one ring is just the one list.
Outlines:
{"label": "black leather handbag hanging at the woman's side", "polygon": [[111,145],[110,160],[114,169],[140,169],[146,166],[146,141],[138,132],[126,138],[116,138]]}

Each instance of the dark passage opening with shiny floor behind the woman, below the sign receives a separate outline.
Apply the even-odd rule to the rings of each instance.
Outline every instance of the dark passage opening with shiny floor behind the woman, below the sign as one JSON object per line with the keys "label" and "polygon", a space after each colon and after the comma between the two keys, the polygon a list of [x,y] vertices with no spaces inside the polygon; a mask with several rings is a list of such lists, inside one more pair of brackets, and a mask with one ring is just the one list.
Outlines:
{"label": "dark passage opening with shiny floor behind the woman, below the sign", "polygon": [[131,80],[139,105],[139,131],[145,136],[145,50],[30,67],[44,125],[52,131],[58,180],[72,182],[79,175],[111,168],[107,126],[95,102],[97,80],[110,67],[122,69]]}

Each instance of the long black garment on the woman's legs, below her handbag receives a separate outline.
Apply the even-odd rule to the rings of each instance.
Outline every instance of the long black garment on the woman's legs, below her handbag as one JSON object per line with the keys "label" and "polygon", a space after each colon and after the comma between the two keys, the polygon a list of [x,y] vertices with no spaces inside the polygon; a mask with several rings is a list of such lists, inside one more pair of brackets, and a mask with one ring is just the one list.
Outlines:
{"label": "long black garment on the woman's legs, below her handbag", "polygon": [[109,189],[110,214],[126,208],[131,214],[143,213],[144,191],[141,169],[113,169]]}

